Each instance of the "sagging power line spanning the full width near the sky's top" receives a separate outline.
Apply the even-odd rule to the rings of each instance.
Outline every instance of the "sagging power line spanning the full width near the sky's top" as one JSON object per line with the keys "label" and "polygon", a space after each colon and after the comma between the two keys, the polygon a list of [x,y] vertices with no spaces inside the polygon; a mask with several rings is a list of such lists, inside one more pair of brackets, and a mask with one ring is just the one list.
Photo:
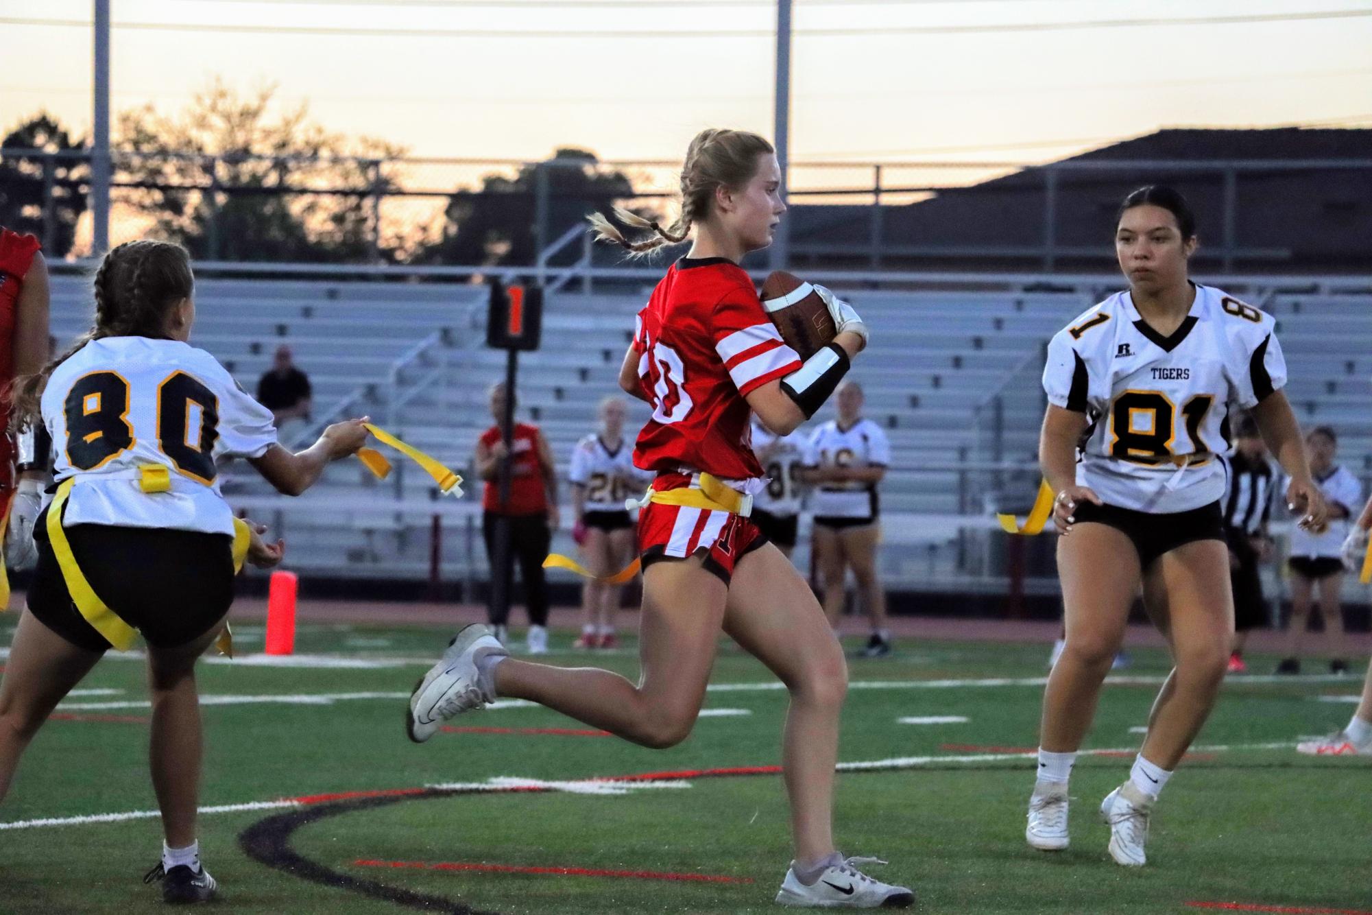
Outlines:
{"label": "sagging power line spanning the full width near the sky's top", "polygon": [[[1273,22],[1310,22],[1318,19],[1353,19],[1372,16],[1372,10],[1323,10],[1312,12],[1275,12],[1257,15],[1191,16],[1185,19],[1084,19],[1077,22],[1006,22],[1006,23],[965,23],[947,26],[882,26],[851,29],[796,29],[801,37],[859,37],[897,34],[986,34],[1008,32],[1061,32],[1074,29],[1114,29],[1135,26],[1195,26],[1195,25],[1255,25]],[[0,25],[27,26],[80,26],[89,27],[82,19],[40,19],[27,16],[0,16]],[[178,23],[178,22],[115,22],[115,29],[144,32],[214,32],[239,34],[310,34],[310,36],[359,36],[388,38],[770,38],[770,29],[733,30],[568,30],[568,29],[375,29],[347,26],[258,26],[226,23]]]}

